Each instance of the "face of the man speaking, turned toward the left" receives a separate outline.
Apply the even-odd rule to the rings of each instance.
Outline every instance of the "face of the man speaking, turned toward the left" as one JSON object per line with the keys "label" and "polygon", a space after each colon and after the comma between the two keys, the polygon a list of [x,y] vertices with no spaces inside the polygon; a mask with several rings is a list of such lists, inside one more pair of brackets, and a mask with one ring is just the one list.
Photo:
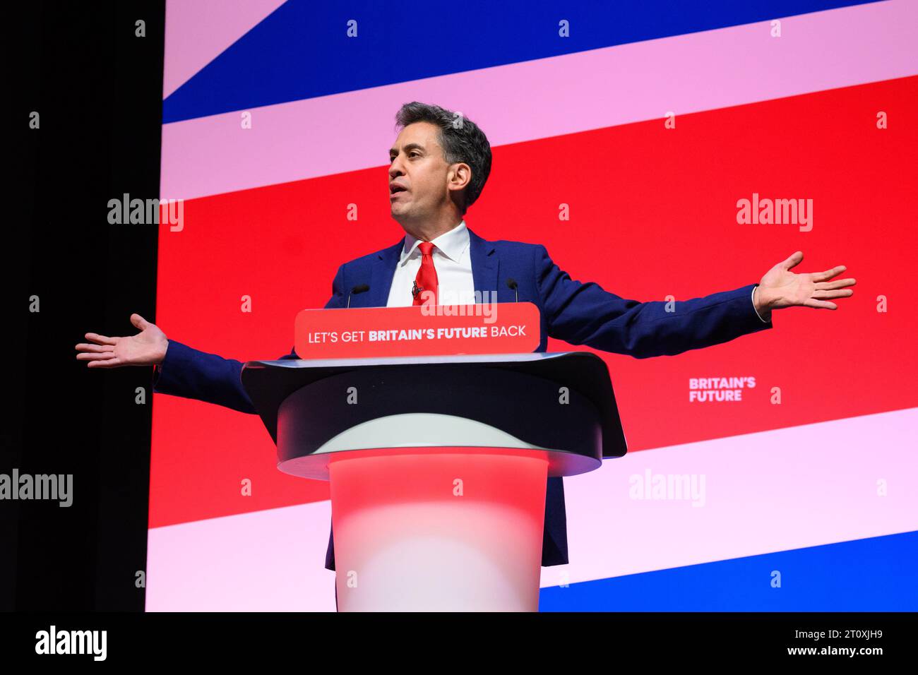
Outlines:
{"label": "face of the man speaking, turned toward the left", "polygon": [[452,208],[449,184],[455,172],[437,137],[431,122],[415,122],[401,130],[389,151],[389,204],[392,218],[403,225],[436,219]]}

